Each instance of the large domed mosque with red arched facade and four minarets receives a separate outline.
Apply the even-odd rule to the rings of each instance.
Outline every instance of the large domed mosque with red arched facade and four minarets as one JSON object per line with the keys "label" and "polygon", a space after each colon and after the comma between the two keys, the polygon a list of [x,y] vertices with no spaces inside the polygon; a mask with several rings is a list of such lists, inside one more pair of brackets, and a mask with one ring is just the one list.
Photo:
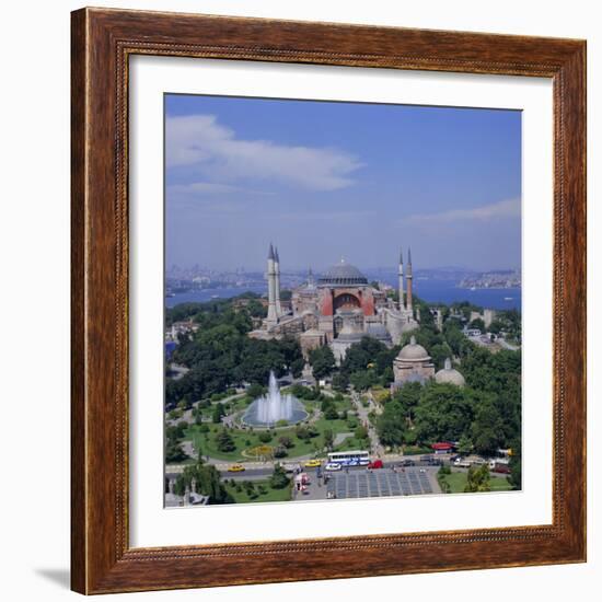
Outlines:
{"label": "large domed mosque with red arched facade and four minarets", "polygon": [[291,309],[282,311],[280,259],[278,250],[271,245],[267,258],[267,280],[268,314],[262,327],[252,331],[250,336],[264,339],[294,336],[305,358],[311,349],[329,345],[337,362],[340,362],[347,349],[364,336],[392,347],[400,343],[403,333],[418,327],[412,302],[409,253],[405,280],[403,257],[400,255],[398,303],[370,286],[359,268],[341,259],[320,275],[317,280],[310,269],[308,280],[292,291]]}

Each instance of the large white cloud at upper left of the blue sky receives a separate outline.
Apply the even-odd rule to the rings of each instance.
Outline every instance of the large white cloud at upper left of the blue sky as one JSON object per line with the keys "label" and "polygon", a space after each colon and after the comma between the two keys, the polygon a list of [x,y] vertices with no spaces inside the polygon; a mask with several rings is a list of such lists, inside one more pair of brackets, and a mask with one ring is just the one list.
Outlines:
{"label": "large white cloud at upper left of the blue sky", "polygon": [[312,190],[350,186],[350,174],[361,166],[357,158],[337,149],[239,139],[213,115],[167,117],[166,163],[188,165],[212,181],[278,181]]}

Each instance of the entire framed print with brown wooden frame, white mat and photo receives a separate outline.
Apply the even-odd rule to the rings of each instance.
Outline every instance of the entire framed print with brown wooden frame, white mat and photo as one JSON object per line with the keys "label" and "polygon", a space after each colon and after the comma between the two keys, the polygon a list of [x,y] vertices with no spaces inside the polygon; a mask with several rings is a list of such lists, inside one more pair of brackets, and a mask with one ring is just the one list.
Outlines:
{"label": "entire framed print with brown wooden frame, white mat and photo", "polygon": [[72,587],[583,562],[582,40],[72,14]]}

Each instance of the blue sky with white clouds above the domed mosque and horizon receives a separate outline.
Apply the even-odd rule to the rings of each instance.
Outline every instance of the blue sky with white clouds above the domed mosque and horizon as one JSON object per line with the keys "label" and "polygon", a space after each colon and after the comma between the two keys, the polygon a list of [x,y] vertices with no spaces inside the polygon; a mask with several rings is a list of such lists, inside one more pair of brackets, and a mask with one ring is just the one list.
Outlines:
{"label": "blue sky with white clouds above the domed mosque and horizon", "polygon": [[165,96],[166,265],[519,268],[516,111]]}

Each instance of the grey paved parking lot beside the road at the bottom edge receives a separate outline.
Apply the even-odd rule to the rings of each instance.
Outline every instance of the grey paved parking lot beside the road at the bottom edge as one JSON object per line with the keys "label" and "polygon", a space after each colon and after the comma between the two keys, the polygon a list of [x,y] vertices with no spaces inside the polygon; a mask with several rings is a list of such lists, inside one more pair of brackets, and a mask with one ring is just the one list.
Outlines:
{"label": "grey paved parking lot beside the road at the bottom edge", "polygon": [[325,491],[321,493],[331,499],[417,496],[441,493],[432,468],[405,468],[403,472],[383,468],[336,473],[329,475],[328,483],[322,489],[325,489]]}

